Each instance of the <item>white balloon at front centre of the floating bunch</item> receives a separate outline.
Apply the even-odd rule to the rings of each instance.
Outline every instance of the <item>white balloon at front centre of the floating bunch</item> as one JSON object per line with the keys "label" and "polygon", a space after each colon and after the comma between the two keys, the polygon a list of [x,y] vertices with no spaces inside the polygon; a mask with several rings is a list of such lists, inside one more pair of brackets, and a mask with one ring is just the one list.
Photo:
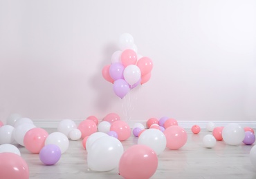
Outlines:
{"label": "white balloon at front centre of the floating bunch", "polygon": [[129,85],[134,85],[140,80],[141,72],[137,65],[128,65],[124,70],[124,78]]}

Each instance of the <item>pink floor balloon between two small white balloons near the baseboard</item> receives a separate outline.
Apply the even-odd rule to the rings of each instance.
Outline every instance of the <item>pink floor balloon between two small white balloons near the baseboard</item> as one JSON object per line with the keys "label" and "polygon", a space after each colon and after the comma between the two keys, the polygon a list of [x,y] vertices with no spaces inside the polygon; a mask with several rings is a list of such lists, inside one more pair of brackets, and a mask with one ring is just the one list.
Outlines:
{"label": "pink floor balloon between two small white balloons near the baseboard", "polygon": [[97,131],[97,125],[93,122],[93,120],[83,120],[77,127],[77,129],[80,129],[83,139],[86,136],[90,136],[94,132]]}

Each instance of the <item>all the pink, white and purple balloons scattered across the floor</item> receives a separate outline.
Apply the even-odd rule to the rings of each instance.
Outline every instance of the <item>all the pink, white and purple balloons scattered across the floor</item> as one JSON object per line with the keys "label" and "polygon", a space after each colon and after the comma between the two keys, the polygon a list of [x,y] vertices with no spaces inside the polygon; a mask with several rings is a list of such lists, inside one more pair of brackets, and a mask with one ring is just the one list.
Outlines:
{"label": "all the pink, white and purple balloons scattered across the floor", "polygon": [[[92,171],[111,171],[118,167],[124,178],[150,178],[158,167],[158,156],[165,149],[180,149],[187,143],[188,134],[178,125],[177,120],[169,117],[149,118],[146,128],[142,123],[133,127],[120,120],[116,113],[109,113],[102,121],[89,116],[78,126],[73,120],[61,120],[57,131],[48,134],[42,128],[35,127],[29,118],[17,114],[10,116],[7,125],[0,123],[0,173],[3,178],[29,178],[26,160],[21,158],[19,144],[32,154],[39,154],[44,165],[55,165],[68,149],[69,140],[81,140],[87,151],[87,165]],[[214,147],[217,140],[228,145],[252,145],[255,142],[254,131],[250,127],[242,128],[237,123],[224,127],[215,127],[209,122],[205,127],[212,134],[203,137],[203,145]],[[193,134],[199,134],[199,125],[191,127]],[[138,142],[127,149],[122,141],[131,134]],[[250,160],[256,165],[256,147],[250,150]]]}

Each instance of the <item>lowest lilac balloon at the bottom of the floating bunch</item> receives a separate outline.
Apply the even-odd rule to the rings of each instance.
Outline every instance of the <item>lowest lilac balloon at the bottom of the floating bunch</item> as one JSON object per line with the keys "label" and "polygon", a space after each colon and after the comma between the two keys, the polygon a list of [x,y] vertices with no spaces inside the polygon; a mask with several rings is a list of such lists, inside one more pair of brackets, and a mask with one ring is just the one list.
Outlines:
{"label": "lowest lilac balloon at the bottom of the floating bunch", "polygon": [[113,92],[120,97],[123,98],[125,95],[130,91],[128,83],[123,80],[119,79],[113,82]]}

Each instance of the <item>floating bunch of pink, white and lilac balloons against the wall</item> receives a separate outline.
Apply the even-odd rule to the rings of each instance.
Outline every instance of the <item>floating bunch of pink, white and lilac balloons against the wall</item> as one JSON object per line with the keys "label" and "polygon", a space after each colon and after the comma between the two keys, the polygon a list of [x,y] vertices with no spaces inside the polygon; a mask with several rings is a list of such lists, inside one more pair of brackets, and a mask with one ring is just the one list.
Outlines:
{"label": "floating bunch of pink, white and lilac balloons against the wall", "polygon": [[111,64],[103,67],[102,76],[113,83],[113,92],[123,98],[134,87],[149,81],[153,63],[147,56],[138,57],[131,34],[120,36],[119,47],[111,56]]}

